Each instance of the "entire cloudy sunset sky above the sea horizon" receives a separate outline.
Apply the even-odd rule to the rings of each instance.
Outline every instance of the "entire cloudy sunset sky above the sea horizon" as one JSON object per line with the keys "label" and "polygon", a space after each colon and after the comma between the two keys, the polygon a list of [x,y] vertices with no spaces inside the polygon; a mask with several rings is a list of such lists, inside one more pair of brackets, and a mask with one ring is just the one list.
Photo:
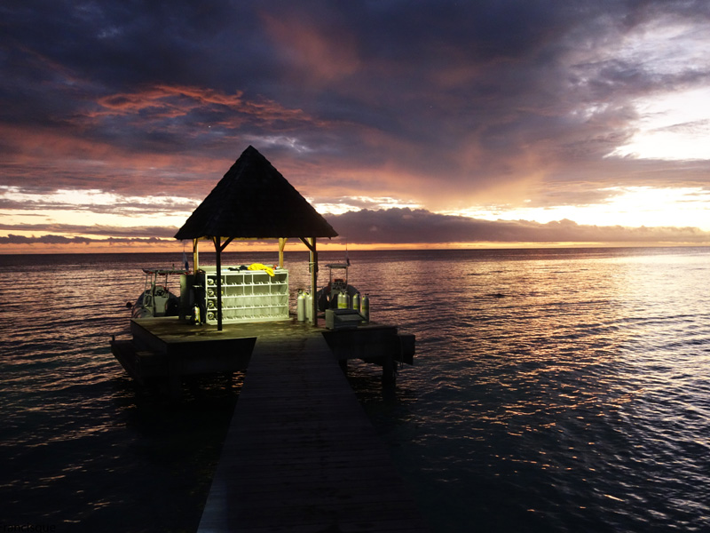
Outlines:
{"label": "entire cloudy sunset sky above the sea horizon", "polygon": [[181,247],[249,145],[352,249],[710,244],[706,0],[8,0],[0,29],[0,253]]}

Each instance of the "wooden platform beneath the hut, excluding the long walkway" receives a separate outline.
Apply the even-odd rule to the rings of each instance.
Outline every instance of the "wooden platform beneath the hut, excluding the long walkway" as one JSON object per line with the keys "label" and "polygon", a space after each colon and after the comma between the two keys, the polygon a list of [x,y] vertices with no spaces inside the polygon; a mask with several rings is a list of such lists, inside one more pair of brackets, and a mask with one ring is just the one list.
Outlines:
{"label": "wooden platform beneath the hut, excluding the long walkway", "polygon": [[130,321],[131,339],[112,338],[111,351],[139,384],[167,380],[170,395],[179,397],[182,378],[195,374],[246,370],[257,338],[285,343],[320,333],[331,358],[341,362],[361,359],[383,367],[383,379],[395,378],[398,363],[414,363],[414,335],[397,327],[367,324],[354,329],[327,330],[304,322],[250,322],[226,324],[223,330],[180,321],[177,317]]}

